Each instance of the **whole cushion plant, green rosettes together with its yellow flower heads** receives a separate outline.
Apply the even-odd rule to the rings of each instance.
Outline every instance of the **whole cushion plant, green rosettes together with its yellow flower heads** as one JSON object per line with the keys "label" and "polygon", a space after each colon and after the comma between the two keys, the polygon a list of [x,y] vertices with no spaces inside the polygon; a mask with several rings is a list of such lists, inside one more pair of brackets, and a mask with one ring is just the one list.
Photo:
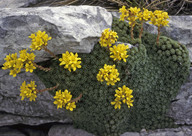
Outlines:
{"label": "whole cushion plant, green rosettes together with its yellow flower heads", "polygon": [[[143,128],[175,127],[173,119],[166,113],[170,101],[189,75],[190,61],[186,47],[159,35],[157,43],[157,36],[146,32],[142,38],[131,39],[130,31],[134,37],[139,37],[138,27],[130,30],[127,23],[119,22],[116,18],[112,29],[117,33],[105,30],[100,44],[111,42],[105,39],[106,34],[111,37],[112,43],[119,37],[119,41],[129,42],[134,47],[127,50],[128,47],[121,44],[112,49],[110,46],[115,45],[106,44],[104,48],[96,44],[90,54],[66,52],[62,56],[55,56],[46,47],[51,38],[45,32],[38,31],[37,36],[30,36],[33,39],[31,47],[34,50],[44,49],[55,58],[42,64],[49,68],[34,63],[35,55],[27,53],[27,50],[21,51],[19,58],[17,54],[8,55],[3,68],[13,70],[10,72],[13,76],[21,68],[25,68],[26,72],[35,71],[47,89],[36,90],[33,81],[27,85],[23,82],[22,99],[27,97],[35,101],[37,93],[58,89],[57,92],[51,91],[53,95],[56,94],[54,104],[57,108],[65,107],[77,128],[98,136],[118,136]],[[39,44],[41,42],[43,44]],[[122,53],[119,61],[113,60],[118,58],[115,50]],[[60,65],[65,65],[65,69]],[[102,72],[98,76],[99,71],[104,71],[103,77]],[[109,77],[111,73],[114,75]],[[107,82],[99,82],[103,80]],[[120,93],[122,88],[125,89],[124,94]],[[75,98],[72,99],[72,96]],[[61,103],[61,100],[64,102]]]}

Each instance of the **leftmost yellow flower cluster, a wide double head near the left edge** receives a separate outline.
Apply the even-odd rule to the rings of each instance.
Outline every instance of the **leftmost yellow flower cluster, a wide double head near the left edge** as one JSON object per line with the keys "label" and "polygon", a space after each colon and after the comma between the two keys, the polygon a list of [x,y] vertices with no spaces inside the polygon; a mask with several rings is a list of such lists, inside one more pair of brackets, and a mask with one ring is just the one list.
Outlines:
{"label": "leftmost yellow flower cluster, a wide double head near the left edge", "polygon": [[10,69],[9,75],[16,75],[21,71],[22,68],[25,68],[26,72],[33,72],[36,67],[33,65],[33,61],[35,60],[34,53],[27,53],[27,49],[19,51],[19,58],[17,57],[17,53],[9,54],[4,59],[6,62],[3,64],[2,69]]}

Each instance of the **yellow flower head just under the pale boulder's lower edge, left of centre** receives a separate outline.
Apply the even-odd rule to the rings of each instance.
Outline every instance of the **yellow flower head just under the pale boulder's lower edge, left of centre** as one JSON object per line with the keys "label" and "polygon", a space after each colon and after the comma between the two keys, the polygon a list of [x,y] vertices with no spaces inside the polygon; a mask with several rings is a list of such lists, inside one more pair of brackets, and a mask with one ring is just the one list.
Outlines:
{"label": "yellow flower head just under the pale boulder's lower edge, left of centre", "polygon": [[66,53],[62,54],[62,58],[59,59],[61,61],[60,65],[65,65],[64,68],[68,69],[71,72],[76,71],[77,68],[81,68],[81,58],[78,58],[78,54],[75,55],[72,52],[66,51]]}

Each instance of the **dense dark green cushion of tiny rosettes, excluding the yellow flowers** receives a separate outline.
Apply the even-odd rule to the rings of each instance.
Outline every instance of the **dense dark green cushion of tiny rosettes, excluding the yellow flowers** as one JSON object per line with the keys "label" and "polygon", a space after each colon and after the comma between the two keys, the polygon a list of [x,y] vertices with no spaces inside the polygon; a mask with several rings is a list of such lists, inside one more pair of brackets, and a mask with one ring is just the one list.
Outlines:
{"label": "dense dark green cushion of tiny rosettes, excluding the yellow flowers", "polygon": [[[142,41],[137,38],[130,40],[130,28],[122,30],[125,26],[125,22],[114,19],[113,30],[118,35],[123,32],[119,41],[136,45],[128,51],[126,63],[113,62],[109,52],[96,44],[90,54],[79,53],[82,68],[75,72],[70,73],[60,67],[56,60],[50,60],[47,65],[52,71],[36,71],[47,87],[59,83],[58,89],[68,89],[73,98],[83,93],[77,108],[73,112],[66,112],[73,119],[75,127],[98,136],[119,136],[126,131],[140,131],[143,128],[176,127],[174,120],[165,114],[170,101],[189,74],[190,61],[186,47],[164,36],[160,37],[161,44],[156,45],[156,35],[146,32]],[[135,30],[137,37],[138,28]],[[97,81],[96,75],[104,64],[116,64],[121,82],[107,86]],[[122,104],[120,110],[115,110],[110,102],[115,98],[115,89],[123,85],[133,90],[134,106],[128,109]]]}

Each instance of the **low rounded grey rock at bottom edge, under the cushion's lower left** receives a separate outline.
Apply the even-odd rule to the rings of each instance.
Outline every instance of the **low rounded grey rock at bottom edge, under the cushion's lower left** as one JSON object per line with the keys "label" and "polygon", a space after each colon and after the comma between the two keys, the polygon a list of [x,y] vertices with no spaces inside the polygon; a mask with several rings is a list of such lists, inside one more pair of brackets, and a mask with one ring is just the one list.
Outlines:
{"label": "low rounded grey rock at bottom edge, under the cushion's lower left", "polygon": [[54,125],[48,132],[48,136],[95,136],[81,129],[75,129],[71,125]]}

